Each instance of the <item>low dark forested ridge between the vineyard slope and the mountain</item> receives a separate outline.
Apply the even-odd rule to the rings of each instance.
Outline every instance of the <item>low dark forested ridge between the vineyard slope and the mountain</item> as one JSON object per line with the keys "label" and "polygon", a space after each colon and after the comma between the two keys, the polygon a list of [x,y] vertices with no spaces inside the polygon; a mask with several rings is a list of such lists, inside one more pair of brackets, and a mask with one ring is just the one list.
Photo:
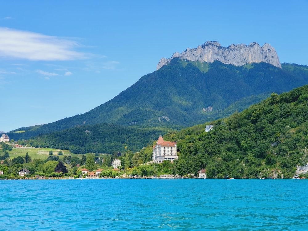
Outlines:
{"label": "low dark forested ridge between the vineyard slope and the mountain", "polygon": [[171,130],[170,128],[124,127],[115,124],[85,125],[29,140],[19,140],[18,143],[30,144],[36,148],[68,149],[75,154],[114,153],[123,152],[126,149],[136,152]]}

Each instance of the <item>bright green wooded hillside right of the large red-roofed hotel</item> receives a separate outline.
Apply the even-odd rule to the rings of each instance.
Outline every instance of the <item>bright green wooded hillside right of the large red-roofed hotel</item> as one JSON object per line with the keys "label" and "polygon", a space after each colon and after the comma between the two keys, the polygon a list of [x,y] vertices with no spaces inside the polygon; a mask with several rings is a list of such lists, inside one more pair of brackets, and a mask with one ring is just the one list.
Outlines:
{"label": "bright green wooded hillside right of the large red-roofed hotel", "polygon": [[[211,123],[171,132],[179,174],[207,170],[209,177],[292,177],[308,163],[308,85]],[[205,125],[213,124],[210,132]]]}

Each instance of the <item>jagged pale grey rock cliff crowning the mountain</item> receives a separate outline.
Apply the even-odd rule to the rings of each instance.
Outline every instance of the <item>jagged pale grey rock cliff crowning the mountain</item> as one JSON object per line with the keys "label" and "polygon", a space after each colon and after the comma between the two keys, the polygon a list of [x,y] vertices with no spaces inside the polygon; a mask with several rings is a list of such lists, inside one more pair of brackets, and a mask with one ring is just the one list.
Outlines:
{"label": "jagged pale grey rock cliff crowning the mountain", "polygon": [[281,68],[281,63],[275,48],[268,43],[265,43],[262,47],[258,43],[251,43],[250,45],[231,44],[229,47],[221,47],[217,41],[207,41],[197,48],[187,48],[187,50],[182,53],[176,52],[170,59],[160,59],[157,64],[157,70],[168,64],[173,58],[208,63],[220,61],[235,66],[243,66],[247,63],[265,62]]}

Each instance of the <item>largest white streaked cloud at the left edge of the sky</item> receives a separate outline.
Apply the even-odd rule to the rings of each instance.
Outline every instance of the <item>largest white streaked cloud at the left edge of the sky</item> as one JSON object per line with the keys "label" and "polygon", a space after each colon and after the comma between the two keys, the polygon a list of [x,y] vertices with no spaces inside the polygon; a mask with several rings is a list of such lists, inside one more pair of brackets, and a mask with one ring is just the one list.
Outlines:
{"label": "largest white streaked cloud at the left edge of the sky", "polygon": [[71,39],[0,27],[0,56],[34,61],[85,59]]}

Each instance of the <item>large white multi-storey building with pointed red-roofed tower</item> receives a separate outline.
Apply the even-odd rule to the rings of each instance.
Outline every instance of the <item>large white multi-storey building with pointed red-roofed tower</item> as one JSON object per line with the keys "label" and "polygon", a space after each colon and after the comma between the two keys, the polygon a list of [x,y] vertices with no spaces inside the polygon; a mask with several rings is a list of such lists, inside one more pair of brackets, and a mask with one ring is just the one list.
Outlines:
{"label": "large white multi-storey building with pointed red-roofed tower", "polygon": [[162,136],[159,136],[156,145],[153,146],[153,163],[161,163],[164,160],[177,160],[179,156],[176,155],[176,142],[164,141]]}

